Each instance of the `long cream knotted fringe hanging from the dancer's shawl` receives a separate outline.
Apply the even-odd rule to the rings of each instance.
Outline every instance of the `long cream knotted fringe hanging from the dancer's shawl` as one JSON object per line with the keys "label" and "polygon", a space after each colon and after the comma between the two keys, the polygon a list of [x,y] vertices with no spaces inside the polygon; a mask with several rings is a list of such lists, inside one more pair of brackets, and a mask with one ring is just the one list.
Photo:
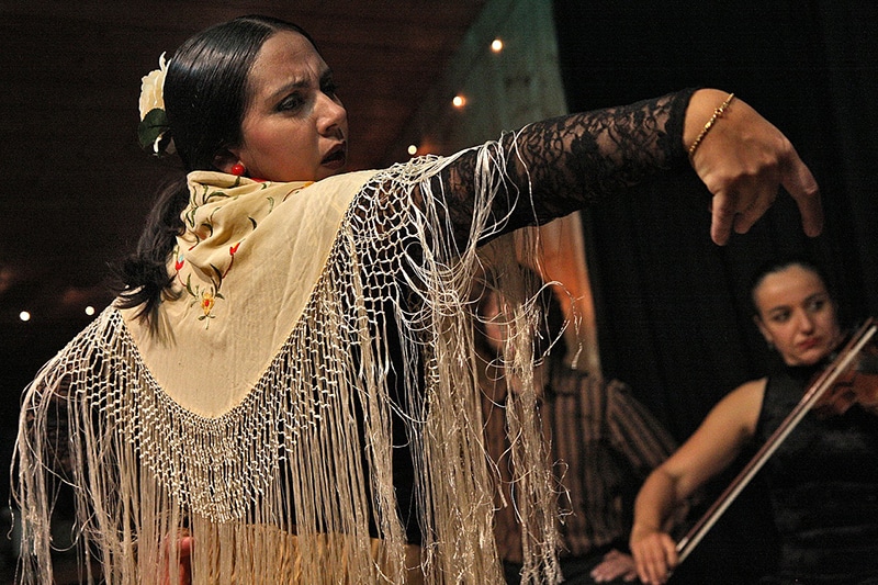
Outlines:
{"label": "long cream knotted fringe hanging from the dancer's shawl", "polygon": [[[223,416],[170,400],[121,314],[105,310],[24,396],[13,473],[20,580],[52,582],[49,522],[71,486],[89,583],[176,576],[183,536],[193,583],[500,583],[498,474],[484,448],[471,310],[485,261],[476,241],[503,226],[491,218],[493,198],[528,196],[509,192],[503,157],[496,144],[481,149],[462,249],[429,182],[448,159],[376,176],[348,210],[286,342]],[[555,497],[527,383],[537,317],[503,245],[505,255],[488,256],[505,297],[517,300],[506,368],[530,389],[507,400],[516,498],[506,505],[522,525],[524,582],[554,583]],[[406,542],[409,510],[398,509],[392,481],[393,416],[413,453],[420,547]]]}

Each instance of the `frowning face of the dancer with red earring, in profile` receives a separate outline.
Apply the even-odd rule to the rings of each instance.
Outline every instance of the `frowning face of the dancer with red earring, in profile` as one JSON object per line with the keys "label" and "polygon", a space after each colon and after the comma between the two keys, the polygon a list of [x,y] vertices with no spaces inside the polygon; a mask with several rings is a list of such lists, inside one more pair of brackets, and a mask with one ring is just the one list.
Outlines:
{"label": "frowning face of the dancer with red earring, in profile", "polygon": [[348,114],[329,67],[307,38],[292,31],[269,37],[248,79],[243,144],[221,162],[238,161],[252,178],[318,181],[347,164]]}

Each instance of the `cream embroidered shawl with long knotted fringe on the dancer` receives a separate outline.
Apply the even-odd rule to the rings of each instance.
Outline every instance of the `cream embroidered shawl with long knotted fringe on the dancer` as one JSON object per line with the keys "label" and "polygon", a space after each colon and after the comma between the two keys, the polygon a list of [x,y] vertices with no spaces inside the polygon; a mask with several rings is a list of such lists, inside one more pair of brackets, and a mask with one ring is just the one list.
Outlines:
{"label": "cream embroidered shawl with long knotted fringe on the dancer", "polygon": [[[184,533],[193,583],[502,582],[471,317],[487,256],[519,300],[506,355],[525,381],[537,317],[511,246],[476,250],[503,227],[489,209],[506,189],[496,145],[482,148],[460,249],[428,182],[450,159],[317,183],[192,173],[187,232],[169,261],[177,296],[155,327],[109,307],[25,394],[22,580],[52,580],[64,484],[89,582],[159,583],[169,564],[176,573]],[[524,576],[555,582],[536,396],[508,404],[522,471],[507,505],[526,533]],[[393,484],[394,417],[412,452],[419,548],[407,544],[409,510]]]}

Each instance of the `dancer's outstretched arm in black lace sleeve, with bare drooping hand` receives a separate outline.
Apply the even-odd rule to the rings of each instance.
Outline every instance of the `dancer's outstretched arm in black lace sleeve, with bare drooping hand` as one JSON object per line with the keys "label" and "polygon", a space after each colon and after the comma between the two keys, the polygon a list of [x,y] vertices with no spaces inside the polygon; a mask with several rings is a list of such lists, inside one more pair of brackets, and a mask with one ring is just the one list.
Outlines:
{"label": "dancer's outstretched arm in black lace sleeve, with bare drooping hand", "polygon": [[[735,98],[694,156],[688,149],[728,93],[685,90],[631,105],[537,122],[506,134],[493,153],[510,184],[495,200],[502,233],[545,223],[587,206],[656,172],[691,165],[712,193],[711,236],[724,244],[765,213],[784,187],[797,201],[808,235],[822,228],[817,182],[789,140]],[[443,172],[455,230],[470,228],[472,198],[484,151],[464,153]],[[532,195],[517,196],[530,190]],[[489,230],[492,235],[496,235]],[[463,233],[458,234],[458,241]]]}

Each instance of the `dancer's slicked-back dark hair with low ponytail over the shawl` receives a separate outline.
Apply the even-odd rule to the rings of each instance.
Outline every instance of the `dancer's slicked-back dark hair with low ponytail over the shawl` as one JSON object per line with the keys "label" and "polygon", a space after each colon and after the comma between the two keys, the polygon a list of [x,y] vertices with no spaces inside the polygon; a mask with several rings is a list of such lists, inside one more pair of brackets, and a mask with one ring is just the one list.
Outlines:
{"label": "dancer's slicked-back dark hair with low ponytail over the shawl", "polygon": [[[165,111],[184,171],[218,170],[216,156],[240,145],[248,74],[264,42],[280,31],[299,33],[314,45],[291,22],[248,15],[198,33],[173,54],[165,78]],[[119,306],[139,306],[139,318],[149,319],[171,284],[167,261],[183,233],[180,213],[188,201],[183,179],[161,189],[135,252],[114,268]]]}

